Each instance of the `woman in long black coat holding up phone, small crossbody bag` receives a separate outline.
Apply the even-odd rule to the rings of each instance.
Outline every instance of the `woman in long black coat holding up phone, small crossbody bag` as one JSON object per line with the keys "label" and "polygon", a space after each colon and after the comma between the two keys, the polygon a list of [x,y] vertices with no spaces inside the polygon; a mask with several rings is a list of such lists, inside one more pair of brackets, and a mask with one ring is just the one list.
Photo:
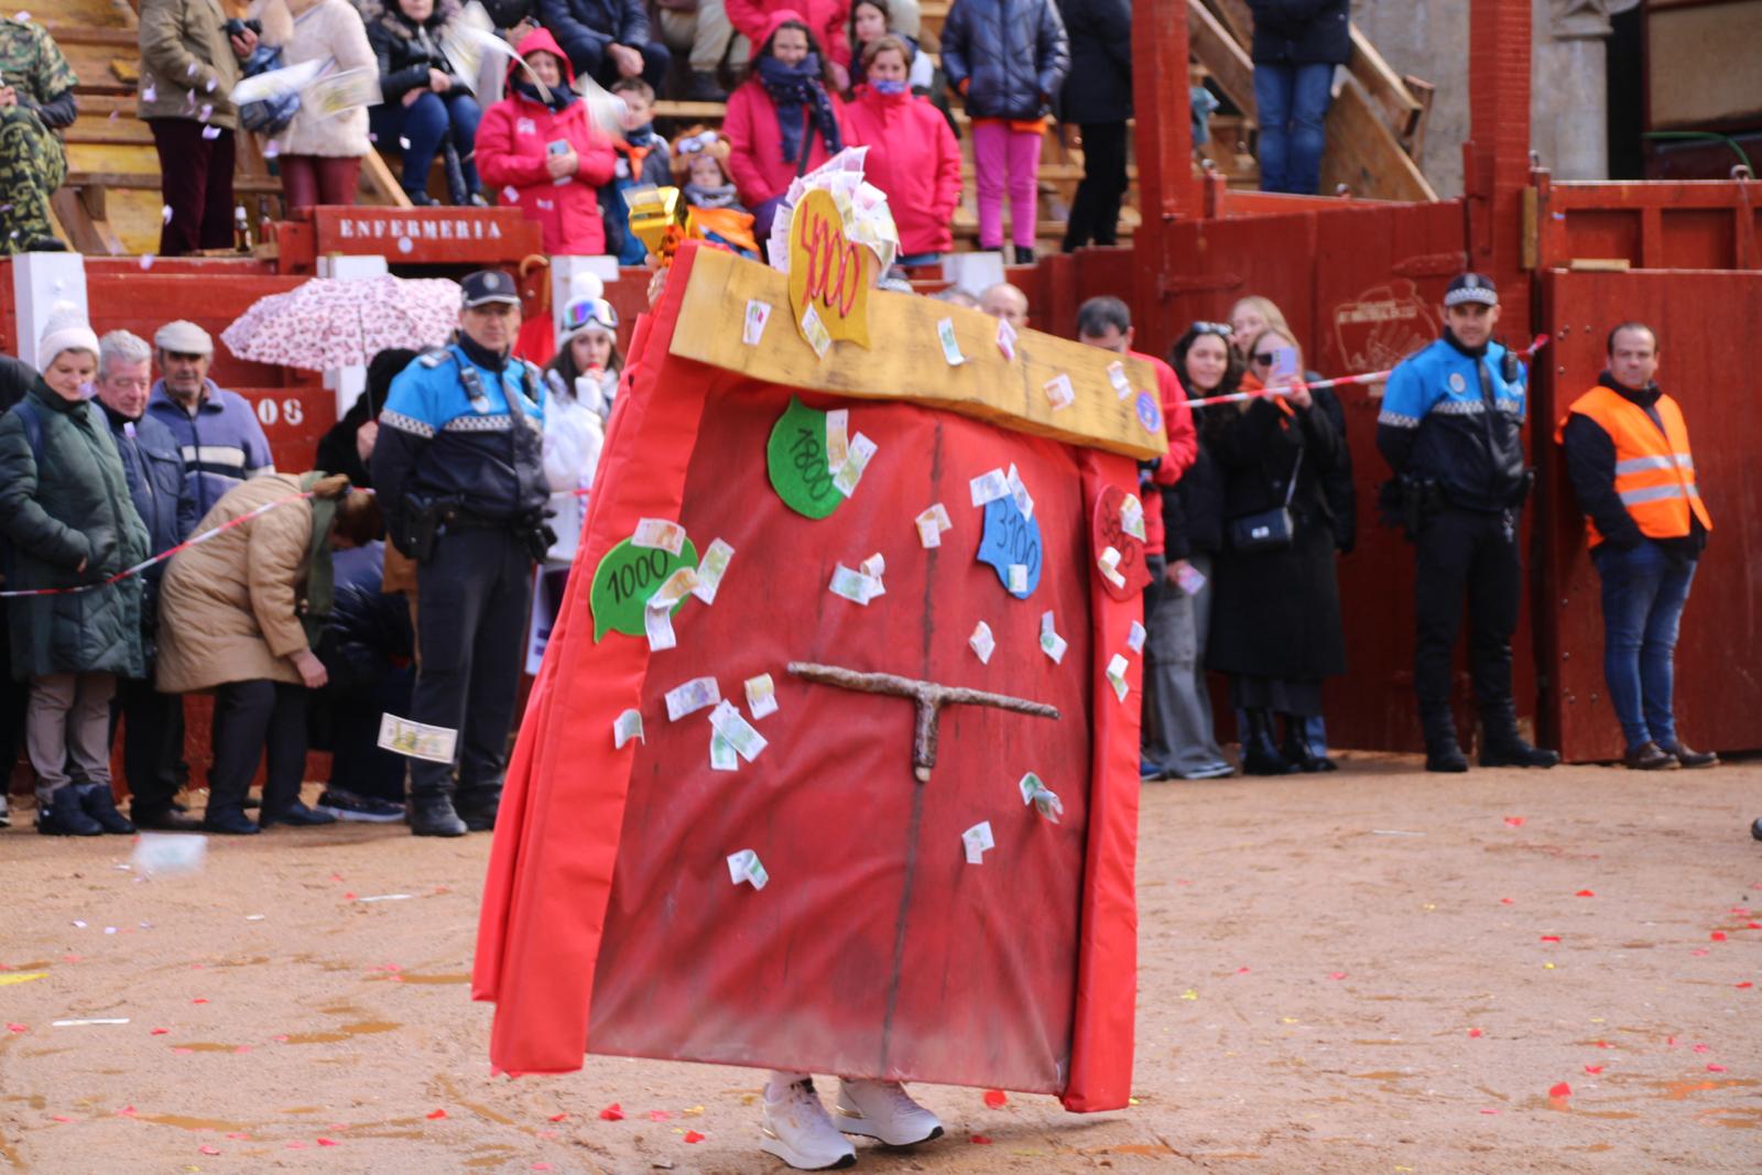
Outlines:
{"label": "woman in long black coat holding up phone, small crossbody bag", "polygon": [[[1284,395],[1202,410],[1225,520],[1207,666],[1230,675],[1230,701],[1247,715],[1246,773],[1325,772],[1334,765],[1311,754],[1304,721],[1322,713],[1322,678],[1346,671],[1322,490],[1344,440],[1300,379],[1302,352],[1288,333],[1260,331],[1247,365],[1242,391]],[[1284,719],[1283,743],[1274,715]]]}

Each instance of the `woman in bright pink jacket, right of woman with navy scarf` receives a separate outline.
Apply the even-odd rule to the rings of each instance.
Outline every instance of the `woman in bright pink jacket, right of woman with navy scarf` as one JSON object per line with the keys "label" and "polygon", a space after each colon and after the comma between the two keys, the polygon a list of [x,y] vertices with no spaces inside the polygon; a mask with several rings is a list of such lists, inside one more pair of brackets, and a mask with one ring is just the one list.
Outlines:
{"label": "woman in bright pink jacket, right of woman with navy scarf", "polygon": [[863,178],[886,192],[899,225],[899,264],[929,266],[955,247],[950,218],[960,203],[960,144],[943,113],[913,95],[909,56],[899,37],[870,41],[867,85],[844,122],[851,144],[869,148]]}

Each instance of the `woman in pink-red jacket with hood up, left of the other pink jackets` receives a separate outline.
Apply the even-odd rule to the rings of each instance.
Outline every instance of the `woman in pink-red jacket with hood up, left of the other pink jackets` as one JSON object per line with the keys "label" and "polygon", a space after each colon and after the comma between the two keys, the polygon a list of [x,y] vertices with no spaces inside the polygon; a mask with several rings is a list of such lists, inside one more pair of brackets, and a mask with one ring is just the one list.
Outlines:
{"label": "woman in pink-red jacket with hood up, left of the other pink jackets", "polygon": [[[507,97],[483,113],[478,174],[486,188],[499,192],[499,204],[518,204],[527,220],[539,222],[546,254],[604,254],[599,185],[611,180],[617,151],[571,88],[574,67],[557,41],[539,28],[516,48],[532,74],[511,63]],[[544,83],[548,100],[532,76]]]}

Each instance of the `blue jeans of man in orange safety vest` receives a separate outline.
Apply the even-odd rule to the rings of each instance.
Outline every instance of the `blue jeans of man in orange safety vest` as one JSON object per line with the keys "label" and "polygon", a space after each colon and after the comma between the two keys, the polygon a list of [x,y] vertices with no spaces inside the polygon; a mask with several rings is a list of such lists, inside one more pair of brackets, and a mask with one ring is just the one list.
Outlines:
{"label": "blue jeans of man in orange safety vest", "polygon": [[1676,631],[1695,578],[1695,560],[1670,558],[1656,543],[1591,551],[1603,580],[1603,678],[1628,750],[1644,742],[1676,745],[1670,692]]}

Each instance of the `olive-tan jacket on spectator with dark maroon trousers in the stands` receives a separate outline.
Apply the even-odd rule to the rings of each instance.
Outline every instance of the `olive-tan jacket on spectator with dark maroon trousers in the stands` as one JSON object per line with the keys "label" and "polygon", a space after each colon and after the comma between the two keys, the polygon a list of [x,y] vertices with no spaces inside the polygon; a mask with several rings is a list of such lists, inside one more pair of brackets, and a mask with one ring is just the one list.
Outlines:
{"label": "olive-tan jacket on spectator with dark maroon trousers in the stands", "polygon": [[220,0],[141,0],[141,118],[201,120],[238,130],[227,99],[240,79]]}

